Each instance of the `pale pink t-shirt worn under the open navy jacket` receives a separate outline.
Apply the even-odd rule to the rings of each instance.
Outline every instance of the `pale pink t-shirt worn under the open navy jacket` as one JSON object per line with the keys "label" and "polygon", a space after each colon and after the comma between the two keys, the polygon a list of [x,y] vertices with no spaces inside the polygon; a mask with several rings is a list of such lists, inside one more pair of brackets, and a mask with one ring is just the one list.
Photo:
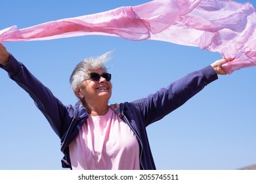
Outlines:
{"label": "pale pink t-shirt worn under the open navy jacket", "polygon": [[140,169],[135,133],[112,109],[89,115],[69,148],[72,169]]}

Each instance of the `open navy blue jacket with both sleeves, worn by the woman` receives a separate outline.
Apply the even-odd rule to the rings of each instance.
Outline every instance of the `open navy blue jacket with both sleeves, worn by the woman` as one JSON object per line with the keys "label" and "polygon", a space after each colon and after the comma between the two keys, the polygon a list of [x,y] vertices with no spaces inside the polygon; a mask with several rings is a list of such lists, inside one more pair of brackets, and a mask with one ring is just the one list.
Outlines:
{"label": "open navy blue jacket with both sleeves, worn by the woman", "polygon": [[[62,167],[71,167],[69,144],[75,139],[81,126],[87,121],[87,110],[80,103],[64,105],[26,67],[11,55],[10,61],[2,67],[20,87],[32,97],[35,105],[60,137],[60,150],[64,153]],[[190,73],[173,82],[167,88],[133,102],[111,105],[111,108],[131,127],[140,146],[140,168],[156,169],[146,126],[156,122],[183,105],[188,99],[200,92],[217,74],[209,65],[200,71]]]}

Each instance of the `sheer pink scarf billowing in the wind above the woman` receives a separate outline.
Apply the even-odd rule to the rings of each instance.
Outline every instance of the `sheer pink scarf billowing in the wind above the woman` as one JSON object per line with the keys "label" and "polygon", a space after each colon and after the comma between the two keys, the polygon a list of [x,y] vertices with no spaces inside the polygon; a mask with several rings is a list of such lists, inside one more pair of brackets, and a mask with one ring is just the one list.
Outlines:
{"label": "sheer pink scarf billowing in the wind above the woman", "polygon": [[226,73],[256,65],[256,15],[251,3],[232,0],[155,0],[135,7],[0,31],[0,42],[37,41],[81,35],[152,39],[219,52],[234,61]]}

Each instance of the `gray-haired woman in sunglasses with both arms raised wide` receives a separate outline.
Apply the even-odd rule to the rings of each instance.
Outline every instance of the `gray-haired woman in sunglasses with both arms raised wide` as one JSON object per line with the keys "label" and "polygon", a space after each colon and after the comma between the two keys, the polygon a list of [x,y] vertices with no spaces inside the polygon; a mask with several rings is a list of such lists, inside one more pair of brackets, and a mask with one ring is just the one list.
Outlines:
{"label": "gray-haired woman in sunglasses with both arms raised wide", "polygon": [[108,105],[112,76],[105,63],[111,55],[84,59],[75,67],[70,83],[79,101],[66,106],[0,44],[1,68],[30,94],[60,137],[62,167],[156,169],[146,126],[180,107],[217,75],[225,75],[221,66],[232,59],[219,59],[143,99]]}

